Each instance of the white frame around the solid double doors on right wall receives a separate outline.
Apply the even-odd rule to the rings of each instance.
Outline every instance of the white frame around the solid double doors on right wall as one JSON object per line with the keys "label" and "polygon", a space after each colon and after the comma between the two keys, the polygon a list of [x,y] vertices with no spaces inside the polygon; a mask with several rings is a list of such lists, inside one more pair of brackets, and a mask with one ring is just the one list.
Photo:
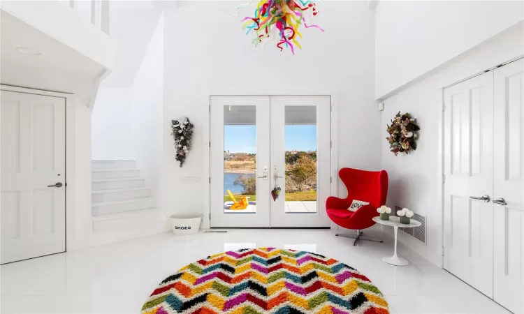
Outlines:
{"label": "white frame around the solid double doors on right wall", "polygon": [[[438,173],[438,189],[437,189],[437,200],[438,200],[438,203],[439,203],[439,208],[440,208],[440,211],[441,211],[441,221],[440,221],[440,240],[441,240],[441,244],[442,244],[442,257],[441,257],[441,260],[440,260],[440,265],[439,267],[444,269],[444,161],[446,160],[445,156],[444,156],[444,100],[445,100],[445,97],[444,97],[444,89],[448,88],[448,87],[452,87],[453,85],[456,85],[456,84],[459,84],[460,82],[464,82],[466,80],[470,80],[471,78],[473,77],[476,77],[476,76],[479,76],[479,75],[482,75],[483,73],[486,73],[488,70],[495,70],[496,68],[499,68],[500,66],[505,66],[506,64],[508,63],[511,63],[511,62],[514,62],[514,61],[517,61],[518,59],[523,59],[524,56],[518,56],[518,57],[515,57],[515,58],[512,58],[512,59],[509,59],[508,61],[505,61],[505,62],[502,62],[502,63],[497,63],[495,66],[491,66],[490,68],[486,69],[486,70],[481,70],[480,72],[478,73],[475,73],[474,75],[468,75],[468,76],[465,76],[464,78],[460,79],[460,80],[457,80],[456,82],[453,82],[452,84],[448,84],[444,87],[441,87],[439,89],[437,89],[437,91],[435,91],[436,93],[439,94],[439,98],[440,99],[440,106],[442,108],[442,110],[440,111],[440,114],[439,114],[439,142],[438,142],[438,145],[439,145],[439,148],[438,148],[438,165],[437,165],[437,173]],[[435,104],[436,105],[436,104]],[[524,192],[524,191],[523,191]],[[524,193],[523,193],[524,195]],[[490,195],[492,196],[492,195]]]}

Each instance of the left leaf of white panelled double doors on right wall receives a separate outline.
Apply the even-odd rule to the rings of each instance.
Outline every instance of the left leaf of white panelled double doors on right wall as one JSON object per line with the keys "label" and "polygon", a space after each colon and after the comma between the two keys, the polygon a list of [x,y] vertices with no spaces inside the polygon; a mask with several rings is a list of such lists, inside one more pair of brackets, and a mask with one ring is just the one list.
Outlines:
{"label": "left leaf of white panelled double doors on right wall", "polygon": [[[493,297],[493,71],[444,90],[444,269]],[[487,200],[486,200],[487,201]]]}

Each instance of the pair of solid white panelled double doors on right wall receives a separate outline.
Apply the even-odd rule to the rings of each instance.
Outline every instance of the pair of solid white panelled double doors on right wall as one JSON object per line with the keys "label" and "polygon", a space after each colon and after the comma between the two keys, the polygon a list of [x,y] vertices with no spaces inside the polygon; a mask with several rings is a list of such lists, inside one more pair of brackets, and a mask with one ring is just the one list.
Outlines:
{"label": "pair of solid white panelled double doors on right wall", "polygon": [[524,59],[444,91],[444,268],[524,313]]}

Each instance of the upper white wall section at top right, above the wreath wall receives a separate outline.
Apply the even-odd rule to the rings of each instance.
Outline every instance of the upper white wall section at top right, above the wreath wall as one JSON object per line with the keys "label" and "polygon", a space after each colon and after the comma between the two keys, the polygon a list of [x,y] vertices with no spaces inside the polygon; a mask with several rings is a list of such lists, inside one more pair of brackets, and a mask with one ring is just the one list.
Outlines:
{"label": "upper white wall section at top right, above the wreath wall", "polygon": [[524,1],[380,1],[376,87],[381,98],[524,19]]}

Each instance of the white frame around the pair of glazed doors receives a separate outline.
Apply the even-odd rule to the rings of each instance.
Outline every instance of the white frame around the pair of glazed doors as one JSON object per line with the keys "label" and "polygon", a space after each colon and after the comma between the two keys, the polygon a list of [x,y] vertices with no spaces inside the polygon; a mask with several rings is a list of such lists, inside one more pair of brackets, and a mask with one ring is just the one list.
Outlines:
{"label": "white frame around the pair of glazed doors", "polygon": [[[301,95],[285,95],[285,94],[270,94],[270,95],[226,95],[226,94],[212,94],[209,96],[208,102],[208,123],[203,126],[204,136],[204,158],[203,158],[203,181],[204,181],[204,197],[203,197],[203,229],[210,228],[210,213],[211,213],[211,184],[210,184],[210,163],[211,163],[211,150],[210,150],[210,126],[211,126],[211,97],[212,96],[328,96],[331,98],[331,184],[330,191],[331,195],[338,196],[338,123],[337,123],[337,97],[334,95],[318,95],[318,94],[301,94]],[[319,205],[319,209],[321,209]],[[331,229],[337,229],[335,223],[331,223]]]}

